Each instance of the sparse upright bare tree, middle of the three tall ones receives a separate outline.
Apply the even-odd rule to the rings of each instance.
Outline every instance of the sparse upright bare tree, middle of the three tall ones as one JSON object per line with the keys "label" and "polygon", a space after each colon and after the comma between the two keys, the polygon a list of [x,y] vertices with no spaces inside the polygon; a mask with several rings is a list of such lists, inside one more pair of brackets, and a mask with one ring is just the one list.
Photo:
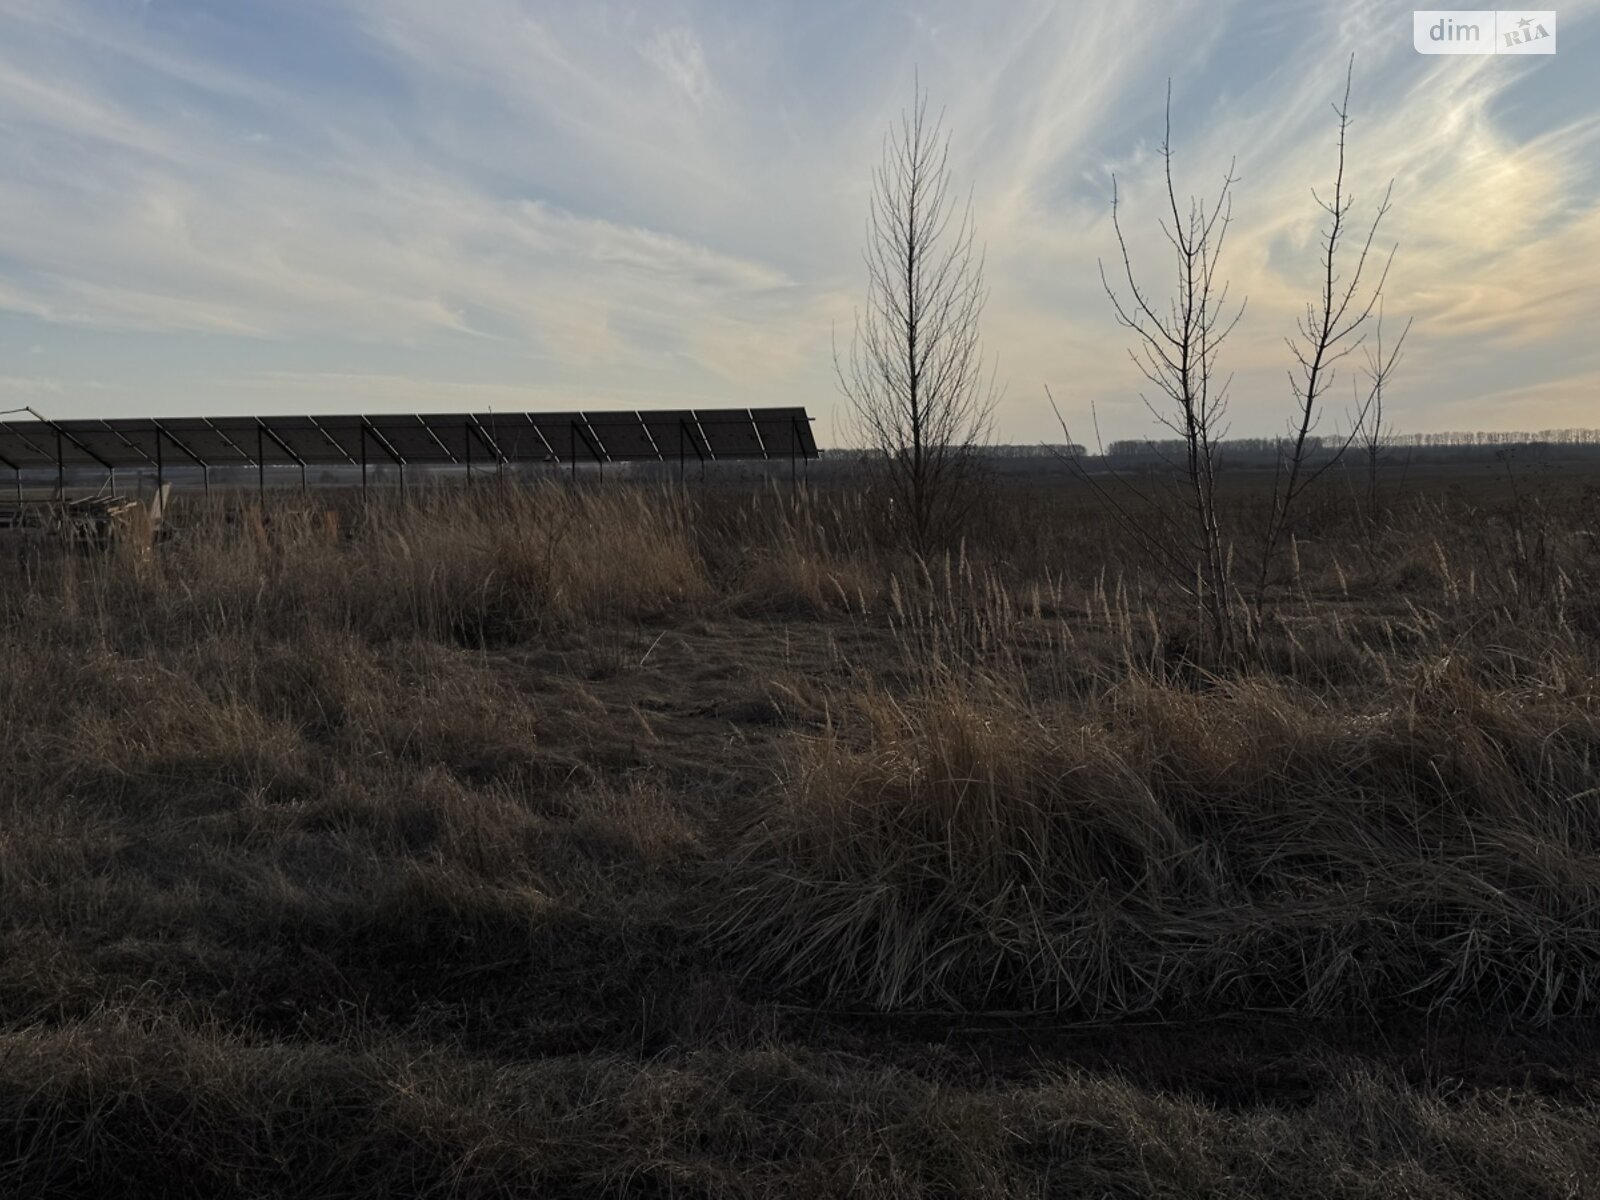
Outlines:
{"label": "sparse upright bare tree, middle of the three tall ones", "polygon": [[[1128,355],[1155,389],[1141,394],[1150,414],[1178,437],[1178,458],[1158,453],[1182,482],[1184,501],[1174,517],[1147,493],[1130,490],[1136,502],[1114,504],[1123,525],[1166,568],[1179,586],[1194,592],[1218,648],[1235,638],[1229,547],[1216,506],[1218,446],[1226,434],[1229,379],[1218,378],[1218,357],[1245,306],[1229,315],[1227,282],[1218,275],[1227,226],[1232,218],[1234,165],[1206,203],[1190,197],[1178,202],[1173,184],[1173,88],[1166,85],[1166,125],[1162,139],[1166,179],[1166,216],[1162,234],[1176,258],[1176,293],[1165,302],[1152,299],[1138,282],[1122,227],[1120,195],[1112,182],[1112,227],[1122,254],[1122,278],[1112,283],[1101,262],[1101,285],[1117,322],[1134,334]],[[1115,498],[1112,498],[1115,499]]]}

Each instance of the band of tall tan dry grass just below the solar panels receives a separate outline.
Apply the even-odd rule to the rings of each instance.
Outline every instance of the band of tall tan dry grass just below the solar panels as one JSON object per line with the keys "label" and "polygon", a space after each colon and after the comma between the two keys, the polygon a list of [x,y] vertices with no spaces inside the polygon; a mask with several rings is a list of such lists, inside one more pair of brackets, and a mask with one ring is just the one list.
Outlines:
{"label": "band of tall tan dry grass just below the solar panels", "polygon": [[88,611],[152,637],[306,624],[478,643],[704,600],[682,493],[483,486],[352,506],[184,501],[149,557],[37,563],[0,592],[19,622]]}

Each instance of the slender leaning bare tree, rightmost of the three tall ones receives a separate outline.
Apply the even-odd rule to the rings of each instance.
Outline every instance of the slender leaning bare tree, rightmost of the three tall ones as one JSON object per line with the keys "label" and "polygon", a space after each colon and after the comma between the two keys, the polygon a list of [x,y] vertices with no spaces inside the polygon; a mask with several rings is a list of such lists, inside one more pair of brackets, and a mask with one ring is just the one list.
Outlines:
{"label": "slender leaning bare tree, rightmost of the three tall ones", "polygon": [[[1373,240],[1378,237],[1378,226],[1389,213],[1389,197],[1394,192],[1394,181],[1390,181],[1373,213],[1366,238],[1355,253],[1355,262],[1346,264],[1349,275],[1341,275],[1341,253],[1347,251],[1349,216],[1355,206],[1355,197],[1344,187],[1346,141],[1350,128],[1350,78],[1354,72],[1355,58],[1352,56],[1344,72],[1344,99],[1334,106],[1334,114],[1339,117],[1339,165],[1333,176],[1333,198],[1325,200],[1312,190],[1312,198],[1328,214],[1328,226],[1322,234],[1322,278],[1317,299],[1306,304],[1306,315],[1299,320],[1298,338],[1286,339],[1296,362],[1296,368],[1290,370],[1294,414],[1290,419],[1288,440],[1278,453],[1277,474],[1272,483],[1272,510],[1267,517],[1267,531],[1261,550],[1261,576],[1256,581],[1258,611],[1266,602],[1274,557],[1283,544],[1285,536],[1293,531],[1296,501],[1325,470],[1344,458],[1344,451],[1349,450],[1357,437],[1357,430],[1365,422],[1366,413],[1363,410],[1352,422],[1350,435],[1342,443],[1334,445],[1331,456],[1322,459],[1315,467],[1312,466],[1312,430],[1317,429],[1322,416],[1322,400],[1333,386],[1336,363],[1346,355],[1354,354],[1365,341],[1366,323],[1382,299],[1384,283],[1389,278],[1389,266],[1394,262],[1397,250],[1397,246],[1389,250],[1378,278],[1371,280],[1368,259],[1371,258]],[[1395,347],[1395,354],[1398,354],[1398,346]],[[1381,382],[1378,392],[1381,392]]]}

